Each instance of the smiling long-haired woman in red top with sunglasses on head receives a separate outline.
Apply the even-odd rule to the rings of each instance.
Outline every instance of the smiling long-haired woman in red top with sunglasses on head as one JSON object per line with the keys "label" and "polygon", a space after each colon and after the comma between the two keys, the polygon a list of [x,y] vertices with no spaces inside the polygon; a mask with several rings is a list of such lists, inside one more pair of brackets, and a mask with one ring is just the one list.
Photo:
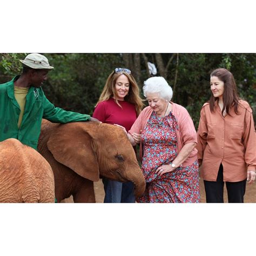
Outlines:
{"label": "smiling long-haired woman in red top with sunglasses on head", "polygon": [[[143,103],[139,97],[139,87],[129,69],[116,68],[107,78],[103,92],[96,104],[93,117],[103,123],[118,124],[131,129],[142,111]],[[134,203],[133,183],[103,178],[104,203]]]}

